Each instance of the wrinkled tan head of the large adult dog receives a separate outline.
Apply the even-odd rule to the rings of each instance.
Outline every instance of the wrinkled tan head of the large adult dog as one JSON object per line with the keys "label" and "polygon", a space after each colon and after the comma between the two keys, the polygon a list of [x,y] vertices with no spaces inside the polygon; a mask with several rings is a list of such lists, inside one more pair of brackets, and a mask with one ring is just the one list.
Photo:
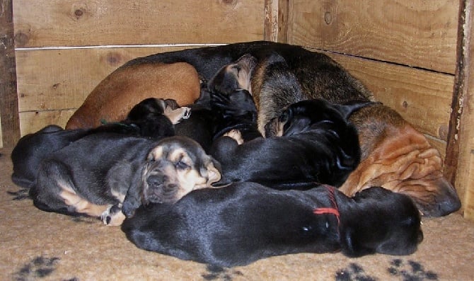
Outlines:
{"label": "wrinkled tan head of the large adult dog", "polygon": [[443,162],[423,134],[384,106],[359,110],[351,117],[359,132],[362,161],[340,190],[352,196],[370,186],[409,195],[422,214],[455,212],[461,201],[442,174]]}

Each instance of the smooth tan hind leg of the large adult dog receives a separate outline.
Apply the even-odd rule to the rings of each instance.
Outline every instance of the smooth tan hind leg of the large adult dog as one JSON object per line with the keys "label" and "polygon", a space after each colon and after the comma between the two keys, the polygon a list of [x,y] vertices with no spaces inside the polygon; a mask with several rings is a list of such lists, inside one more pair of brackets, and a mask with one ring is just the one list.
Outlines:
{"label": "smooth tan hind leg of the large adult dog", "polygon": [[139,64],[120,67],[93,89],[67,122],[66,129],[93,128],[118,122],[145,98],[172,98],[179,105],[200,96],[200,78],[190,64]]}

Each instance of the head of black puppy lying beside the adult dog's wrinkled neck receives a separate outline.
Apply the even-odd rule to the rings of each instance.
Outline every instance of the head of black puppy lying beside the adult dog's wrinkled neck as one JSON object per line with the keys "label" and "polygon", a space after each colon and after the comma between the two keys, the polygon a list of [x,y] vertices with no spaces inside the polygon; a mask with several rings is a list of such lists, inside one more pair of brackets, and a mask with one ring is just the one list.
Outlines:
{"label": "head of black puppy lying beside the adult dog's wrinkled neck", "polygon": [[265,125],[265,136],[290,136],[311,130],[311,127],[325,123],[347,122],[347,117],[371,102],[353,102],[347,105],[335,104],[320,98],[299,101],[289,105],[282,114]]}

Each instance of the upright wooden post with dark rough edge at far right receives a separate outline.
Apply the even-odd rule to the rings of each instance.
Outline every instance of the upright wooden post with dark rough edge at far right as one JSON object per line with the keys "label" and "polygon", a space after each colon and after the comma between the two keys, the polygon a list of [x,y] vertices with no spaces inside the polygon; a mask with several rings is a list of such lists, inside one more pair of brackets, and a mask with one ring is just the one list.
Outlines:
{"label": "upright wooden post with dark rough edge at far right", "polygon": [[[460,13],[460,41],[456,87],[453,95],[453,130],[449,150],[450,172],[463,203],[464,217],[474,221],[474,1],[466,0]],[[454,170],[456,168],[456,170]]]}

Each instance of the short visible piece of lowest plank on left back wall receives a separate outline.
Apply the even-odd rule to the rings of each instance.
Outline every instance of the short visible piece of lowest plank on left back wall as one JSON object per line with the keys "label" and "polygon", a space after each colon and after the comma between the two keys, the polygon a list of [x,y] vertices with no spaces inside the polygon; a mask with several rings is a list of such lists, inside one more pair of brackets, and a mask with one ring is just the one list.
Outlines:
{"label": "short visible piece of lowest plank on left back wall", "polygon": [[20,113],[21,135],[37,132],[46,125],[65,127],[76,110],[46,110]]}

